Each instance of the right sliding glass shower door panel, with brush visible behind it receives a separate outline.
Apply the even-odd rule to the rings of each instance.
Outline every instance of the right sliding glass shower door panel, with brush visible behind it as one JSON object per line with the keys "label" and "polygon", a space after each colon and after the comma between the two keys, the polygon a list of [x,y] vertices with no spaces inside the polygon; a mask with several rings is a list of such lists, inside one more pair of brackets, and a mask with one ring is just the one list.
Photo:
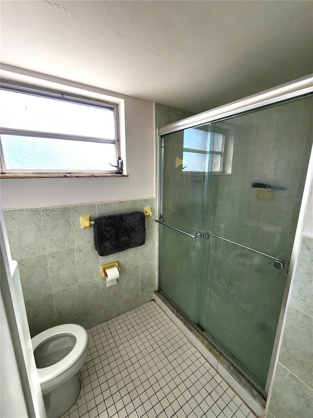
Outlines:
{"label": "right sliding glass shower door panel, with brush visible behind it", "polygon": [[212,124],[214,142],[223,134],[233,158],[210,172],[199,323],[262,392],[312,147],[311,112],[309,97]]}

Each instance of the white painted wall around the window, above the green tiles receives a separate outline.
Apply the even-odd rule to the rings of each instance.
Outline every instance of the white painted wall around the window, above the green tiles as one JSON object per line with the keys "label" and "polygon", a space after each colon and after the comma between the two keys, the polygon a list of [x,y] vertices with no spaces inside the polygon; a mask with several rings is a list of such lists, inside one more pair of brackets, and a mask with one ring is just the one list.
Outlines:
{"label": "white painted wall around the window, above the green tiles", "polygon": [[[7,78],[8,74],[3,76]],[[11,78],[34,83],[33,77],[20,74]],[[49,80],[51,77],[45,78]],[[39,85],[44,84],[42,81]],[[56,83],[55,78],[52,81]],[[66,84],[64,80],[57,81]],[[69,84],[86,91],[86,86]],[[93,91],[108,95],[100,89]],[[1,206],[62,206],[155,197],[154,103],[119,94],[116,96],[124,98],[128,177],[1,179]],[[121,144],[122,149],[124,146]]]}

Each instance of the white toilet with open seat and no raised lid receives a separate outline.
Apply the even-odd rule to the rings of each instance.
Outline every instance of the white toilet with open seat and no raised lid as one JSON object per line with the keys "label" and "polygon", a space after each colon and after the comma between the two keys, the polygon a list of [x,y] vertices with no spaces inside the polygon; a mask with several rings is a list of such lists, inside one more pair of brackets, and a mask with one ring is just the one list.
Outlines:
{"label": "white toilet with open seat and no raised lid", "polygon": [[77,373],[86,360],[88,334],[77,324],[57,325],[31,339],[47,418],[58,418],[76,401]]}

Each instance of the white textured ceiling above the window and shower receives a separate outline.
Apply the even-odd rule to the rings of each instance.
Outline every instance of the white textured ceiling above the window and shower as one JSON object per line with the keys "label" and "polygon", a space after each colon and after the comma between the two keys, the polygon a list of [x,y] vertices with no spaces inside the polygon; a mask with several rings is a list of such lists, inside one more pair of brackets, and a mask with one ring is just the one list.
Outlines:
{"label": "white textured ceiling above the window and shower", "polygon": [[313,73],[313,1],[1,1],[1,62],[200,112]]}

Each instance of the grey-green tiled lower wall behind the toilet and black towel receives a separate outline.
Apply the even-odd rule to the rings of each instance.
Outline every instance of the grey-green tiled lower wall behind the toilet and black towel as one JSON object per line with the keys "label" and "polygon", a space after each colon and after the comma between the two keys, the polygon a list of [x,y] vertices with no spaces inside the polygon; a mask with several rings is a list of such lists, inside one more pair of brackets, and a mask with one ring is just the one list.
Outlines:
{"label": "grey-green tiled lower wall behind the toilet and black towel", "polygon": [[[155,217],[146,219],[144,246],[99,257],[90,219],[143,210],[155,199],[124,200],[64,207],[63,211],[4,213],[12,258],[18,261],[31,336],[63,323],[86,328],[152,299],[156,282]],[[118,261],[117,284],[106,287],[100,265]]]}

